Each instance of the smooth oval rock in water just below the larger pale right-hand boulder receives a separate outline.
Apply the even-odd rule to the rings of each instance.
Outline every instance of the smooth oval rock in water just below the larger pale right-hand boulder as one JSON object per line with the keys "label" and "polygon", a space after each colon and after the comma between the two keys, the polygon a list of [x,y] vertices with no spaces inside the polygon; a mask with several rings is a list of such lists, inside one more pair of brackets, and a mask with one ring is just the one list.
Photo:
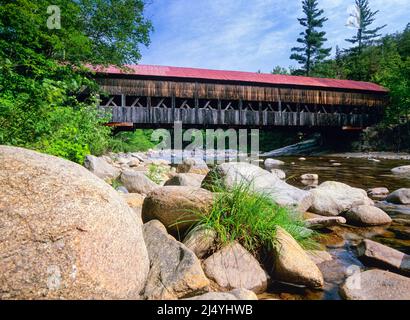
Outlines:
{"label": "smooth oval rock in water just below the larger pale right-hand boulder", "polygon": [[358,206],[346,213],[350,224],[358,226],[380,226],[392,223],[390,216],[383,210],[374,206]]}

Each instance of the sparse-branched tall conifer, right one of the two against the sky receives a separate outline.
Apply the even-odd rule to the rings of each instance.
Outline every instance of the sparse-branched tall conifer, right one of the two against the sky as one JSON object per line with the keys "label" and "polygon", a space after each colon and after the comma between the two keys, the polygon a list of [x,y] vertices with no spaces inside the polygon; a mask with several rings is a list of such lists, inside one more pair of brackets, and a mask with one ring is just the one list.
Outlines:
{"label": "sparse-branched tall conifer, right one of the two against the sky", "polygon": [[355,0],[356,2],[356,27],[357,34],[351,39],[346,39],[346,41],[357,45],[353,50],[357,50],[359,53],[362,51],[363,46],[371,44],[374,40],[379,38],[381,34],[378,32],[385,28],[387,25],[370,29],[370,26],[375,21],[375,16],[379,11],[372,11],[370,9],[369,0]]}

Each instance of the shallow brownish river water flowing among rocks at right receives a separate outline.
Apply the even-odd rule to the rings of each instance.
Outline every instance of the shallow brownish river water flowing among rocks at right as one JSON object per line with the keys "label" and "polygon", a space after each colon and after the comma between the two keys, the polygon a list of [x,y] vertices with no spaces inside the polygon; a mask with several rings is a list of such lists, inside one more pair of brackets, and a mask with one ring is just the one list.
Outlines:
{"label": "shallow brownish river water flowing among rocks at right", "polygon": [[[368,159],[307,157],[300,161],[297,157],[278,158],[286,164],[281,167],[287,174],[287,182],[308,188],[300,181],[302,174],[318,174],[320,183],[338,181],[352,187],[370,189],[386,187],[390,191],[400,188],[410,188],[410,177],[399,177],[391,173],[391,169],[410,165],[409,160],[380,160],[376,162]],[[340,166],[334,166],[340,163]],[[319,265],[324,279],[324,291],[311,291],[295,286],[274,283],[269,293],[261,295],[260,299],[303,299],[303,300],[338,300],[339,288],[355,268],[365,270],[366,267],[357,259],[355,246],[362,239],[372,239],[392,248],[410,254],[410,206],[388,205],[378,202],[393,218],[390,226],[358,228],[352,226],[333,227],[322,234],[321,244],[332,256],[333,260]]]}

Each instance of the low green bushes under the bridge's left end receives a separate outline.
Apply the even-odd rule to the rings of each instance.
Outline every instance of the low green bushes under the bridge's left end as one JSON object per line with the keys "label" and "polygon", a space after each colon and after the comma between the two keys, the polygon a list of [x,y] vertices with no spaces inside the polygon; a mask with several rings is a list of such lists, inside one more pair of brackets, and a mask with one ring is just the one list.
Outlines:
{"label": "low green bushes under the bridge's left end", "polygon": [[152,131],[120,132],[110,140],[108,149],[115,153],[148,151],[155,147],[151,141]]}

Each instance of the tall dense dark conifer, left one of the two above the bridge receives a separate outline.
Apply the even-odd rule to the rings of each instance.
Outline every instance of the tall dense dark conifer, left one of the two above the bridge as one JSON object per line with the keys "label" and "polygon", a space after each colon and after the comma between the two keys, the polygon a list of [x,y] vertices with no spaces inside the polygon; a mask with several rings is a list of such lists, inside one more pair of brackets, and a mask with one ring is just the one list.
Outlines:
{"label": "tall dense dark conifer, left one of the two above the bridge", "polygon": [[330,55],[332,48],[323,48],[327,40],[325,38],[326,32],[317,30],[323,28],[323,24],[328,20],[322,17],[324,11],[318,9],[317,0],[303,0],[302,5],[306,17],[298,19],[298,21],[306,29],[300,33],[302,37],[297,39],[297,42],[301,43],[302,46],[292,48],[294,53],[290,58],[302,64],[302,72],[309,76],[312,67],[325,60]]}

